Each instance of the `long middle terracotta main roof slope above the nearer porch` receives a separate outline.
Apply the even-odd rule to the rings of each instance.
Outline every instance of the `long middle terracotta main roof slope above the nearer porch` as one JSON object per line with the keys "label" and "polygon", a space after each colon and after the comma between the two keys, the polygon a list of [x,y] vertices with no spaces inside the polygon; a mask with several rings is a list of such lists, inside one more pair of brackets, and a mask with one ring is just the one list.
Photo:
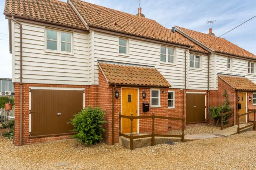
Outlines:
{"label": "long middle terracotta main roof slope above the nearer porch", "polygon": [[200,46],[185,38],[178,32],[163,27],[155,20],[87,3],[81,0],[70,0],[89,26],[108,28],[138,36],[194,46],[193,50],[206,52]]}

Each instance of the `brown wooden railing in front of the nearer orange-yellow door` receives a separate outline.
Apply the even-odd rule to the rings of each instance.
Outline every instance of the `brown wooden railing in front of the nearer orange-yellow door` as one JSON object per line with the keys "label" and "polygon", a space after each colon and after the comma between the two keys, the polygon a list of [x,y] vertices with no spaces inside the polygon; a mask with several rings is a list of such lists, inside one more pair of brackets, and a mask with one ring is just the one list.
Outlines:
{"label": "brown wooden railing in front of the nearer orange-yellow door", "polygon": [[[130,135],[127,134],[122,134],[121,133],[121,118],[125,119],[130,119],[131,120],[131,132]],[[132,122],[133,119],[152,119],[152,133],[147,134],[147,135],[139,135],[139,136],[133,136],[132,132]],[[182,134],[181,135],[171,135],[171,134],[155,134],[155,119],[167,119],[167,120],[180,120],[182,121]],[[121,115],[119,113],[119,136],[124,136],[125,138],[130,139],[130,149],[133,150],[133,139],[139,139],[139,138],[148,138],[151,137],[151,146],[155,145],[155,137],[176,137],[176,138],[181,138],[181,141],[185,141],[185,135],[184,135],[184,130],[185,130],[185,117],[183,116],[182,118],[177,118],[177,117],[166,117],[166,116],[155,116],[154,113],[150,116],[125,116]]]}

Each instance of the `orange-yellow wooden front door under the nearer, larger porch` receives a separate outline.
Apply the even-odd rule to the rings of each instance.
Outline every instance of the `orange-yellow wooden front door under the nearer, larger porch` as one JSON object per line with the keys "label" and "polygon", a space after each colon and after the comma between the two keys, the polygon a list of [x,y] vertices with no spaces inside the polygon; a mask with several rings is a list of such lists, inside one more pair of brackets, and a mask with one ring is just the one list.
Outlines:
{"label": "orange-yellow wooden front door under the nearer, larger porch", "polygon": [[[128,88],[122,88],[121,92],[122,96],[122,115],[131,116],[131,113],[133,116],[138,115],[138,89],[128,89]],[[122,133],[130,133],[131,132],[131,120],[122,118],[121,120],[121,132]],[[138,128],[138,120],[133,119],[132,123],[132,132],[137,132]]]}

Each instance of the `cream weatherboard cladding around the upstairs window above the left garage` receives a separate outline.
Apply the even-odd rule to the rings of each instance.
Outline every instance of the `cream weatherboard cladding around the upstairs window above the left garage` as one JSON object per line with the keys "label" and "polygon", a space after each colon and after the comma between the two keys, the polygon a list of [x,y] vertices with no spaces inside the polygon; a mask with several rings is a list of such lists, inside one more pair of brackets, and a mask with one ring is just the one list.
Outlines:
{"label": "cream weatherboard cladding around the upstairs window above the left garage", "polygon": [[[23,24],[23,82],[41,84],[87,85],[89,77],[88,34],[73,32],[74,54],[45,51],[45,27]],[[15,27],[15,29],[13,29]],[[13,82],[20,77],[19,25],[12,22]]]}

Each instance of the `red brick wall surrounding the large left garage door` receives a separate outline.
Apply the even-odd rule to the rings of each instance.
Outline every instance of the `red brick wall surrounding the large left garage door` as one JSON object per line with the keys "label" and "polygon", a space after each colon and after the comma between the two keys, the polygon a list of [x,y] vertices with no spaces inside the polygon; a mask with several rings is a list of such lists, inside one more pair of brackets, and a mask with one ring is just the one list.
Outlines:
{"label": "red brick wall surrounding the large left garage door", "polygon": [[[85,105],[95,106],[95,95],[92,95],[92,100],[90,98],[91,94],[95,94],[93,92],[97,89],[97,85],[92,86],[83,86],[83,85],[51,85],[51,84],[23,84],[23,133],[22,133],[22,143],[23,144],[30,144],[30,143],[38,143],[38,142],[45,142],[49,140],[59,140],[59,139],[66,139],[70,138],[71,135],[65,136],[52,136],[47,138],[33,138],[29,139],[29,87],[31,86],[38,86],[38,87],[59,87],[59,88],[85,88]],[[15,83],[15,134],[14,134],[14,144],[20,144],[20,84]]]}

